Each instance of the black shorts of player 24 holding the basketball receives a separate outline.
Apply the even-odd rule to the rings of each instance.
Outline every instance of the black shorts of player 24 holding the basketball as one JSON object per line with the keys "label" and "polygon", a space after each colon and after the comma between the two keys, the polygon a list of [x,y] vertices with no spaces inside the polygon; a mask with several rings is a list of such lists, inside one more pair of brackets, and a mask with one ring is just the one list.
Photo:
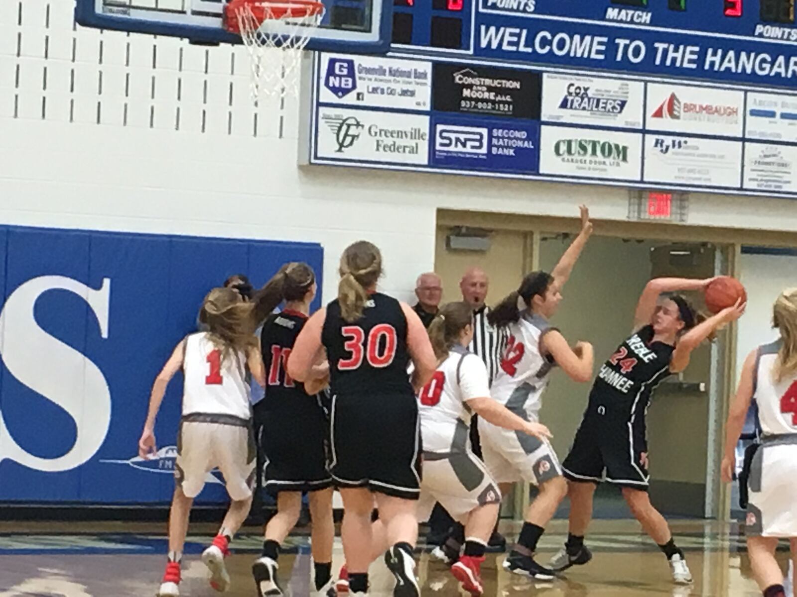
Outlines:
{"label": "black shorts of player 24 holding the basketball", "polygon": [[565,478],[575,482],[603,481],[646,491],[650,474],[643,417],[630,420],[630,410],[590,404],[562,463]]}

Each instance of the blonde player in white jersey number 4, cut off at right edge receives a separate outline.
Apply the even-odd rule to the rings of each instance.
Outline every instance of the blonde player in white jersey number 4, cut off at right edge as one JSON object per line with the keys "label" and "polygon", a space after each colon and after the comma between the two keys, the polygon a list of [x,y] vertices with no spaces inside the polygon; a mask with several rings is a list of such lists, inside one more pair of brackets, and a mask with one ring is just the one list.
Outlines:
{"label": "blonde player in white jersey number 4, cut off at right edge", "polygon": [[744,534],[764,597],[786,597],[775,548],[779,539],[791,540],[791,561],[797,570],[797,288],[783,291],[773,311],[780,338],[753,350],[744,361],[728,413],[722,478],[732,479],[736,443],[756,400],[764,438],[750,467]]}

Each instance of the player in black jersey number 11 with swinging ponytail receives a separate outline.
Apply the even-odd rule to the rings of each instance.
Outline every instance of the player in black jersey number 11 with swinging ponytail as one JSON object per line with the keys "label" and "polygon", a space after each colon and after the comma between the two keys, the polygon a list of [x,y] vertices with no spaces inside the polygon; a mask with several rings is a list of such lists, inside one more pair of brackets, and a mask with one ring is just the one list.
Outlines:
{"label": "player in black jersey number 11 with swinging ponytail", "polygon": [[316,296],[316,275],[307,263],[287,263],[264,292],[285,299],[285,308],[266,318],[261,332],[265,365],[265,397],[254,406],[257,443],[261,451],[263,486],[277,497],[277,514],[265,526],[261,557],[252,572],[260,597],[283,595],[277,582],[280,545],[299,520],[303,491],[310,492],[312,559],[316,591],[332,577],[332,477],[327,470],[324,443],[328,422],[317,392],[326,384],[328,365],[316,365],[304,384],[285,371],[296,337],[307,321]]}

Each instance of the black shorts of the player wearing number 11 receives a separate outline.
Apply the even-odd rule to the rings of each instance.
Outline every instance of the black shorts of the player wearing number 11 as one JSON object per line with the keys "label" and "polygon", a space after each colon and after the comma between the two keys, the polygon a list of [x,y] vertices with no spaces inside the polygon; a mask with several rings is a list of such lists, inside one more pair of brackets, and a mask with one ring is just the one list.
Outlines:
{"label": "black shorts of the player wearing number 11", "polygon": [[[307,404],[304,404],[306,402]],[[315,398],[257,412],[261,483],[266,493],[317,491],[332,486],[327,462],[329,424]],[[255,406],[257,409],[257,405]]]}

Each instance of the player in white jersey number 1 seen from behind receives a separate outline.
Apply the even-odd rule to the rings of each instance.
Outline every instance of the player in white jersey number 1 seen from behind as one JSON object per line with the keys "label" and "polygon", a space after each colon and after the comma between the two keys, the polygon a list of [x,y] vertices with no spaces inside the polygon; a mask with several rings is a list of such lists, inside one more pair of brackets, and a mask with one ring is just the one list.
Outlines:
{"label": "player in white jersey number 1 seen from behind", "polygon": [[226,591],[230,576],[224,557],[228,544],[252,505],[255,451],[252,438],[246,367],[257,383],[265,373],[257,340],[256,305],[243,302],[232,288],[214,288],[199,314],[206,330],[190,334],[175,348],[152,387],[147,422],[139,439],[139,455],[157,454],[155,417],[169,380],[183,369],[183,416],[178,431],[175,495],[169,515],[169,556],[159,597],[179,595],[180,560],[188,517],[211,470],[218,467],[232,503],[213,544],[202,553],[210,569],[210,586]]}

